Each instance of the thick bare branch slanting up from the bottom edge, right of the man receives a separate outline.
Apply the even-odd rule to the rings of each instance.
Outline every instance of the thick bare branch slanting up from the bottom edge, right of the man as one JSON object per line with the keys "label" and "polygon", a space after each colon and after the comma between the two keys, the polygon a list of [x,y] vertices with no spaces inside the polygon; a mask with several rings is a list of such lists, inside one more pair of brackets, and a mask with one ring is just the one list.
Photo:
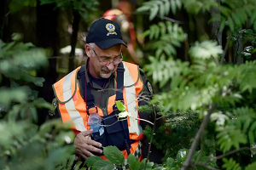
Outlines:
{"label": "thick bare branch slanting up from the bottom edge, right of the man", "polygon": [[216,105],[210,105],[210,109],[207,111],[207,116],[204,117],[203,122],[201,122],[201,126],[197,133],[195,134],[195,139],[189,149],[189,155],[186,158],[186,161],[183,163],[183,167],[181,167],[181,170],[186,170],[191,166],[191,160],[193,158],[193,154],[195,151],[195,148],[201,138],[201,134],[203,133],[204,129],[207,127],[207,124],[210,120],[210,116],[212,114],[212,111],[215,110]]}

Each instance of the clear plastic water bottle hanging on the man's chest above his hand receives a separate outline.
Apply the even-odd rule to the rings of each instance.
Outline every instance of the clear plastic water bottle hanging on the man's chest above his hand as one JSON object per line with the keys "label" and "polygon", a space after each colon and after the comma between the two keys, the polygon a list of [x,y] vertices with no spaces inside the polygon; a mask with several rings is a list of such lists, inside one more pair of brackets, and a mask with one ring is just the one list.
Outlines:
{"label": "clear plastic water bottle hanging on the man's chest above his hand", "polygon": [[90,129],[93,129],[93,133],[91,134],[92,137],[96,135],[96,133],[99,132],[99,129],[101,127],[102,117],[99,116],[97,112],[91,113],[88,118],[88,123],[90,124]]}

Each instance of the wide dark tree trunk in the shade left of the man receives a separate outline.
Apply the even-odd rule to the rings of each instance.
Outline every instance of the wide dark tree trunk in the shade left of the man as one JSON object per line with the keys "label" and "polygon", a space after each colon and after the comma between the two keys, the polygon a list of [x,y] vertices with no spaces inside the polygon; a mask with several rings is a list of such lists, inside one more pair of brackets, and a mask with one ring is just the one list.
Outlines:
{"label": "wide dark tree trunk in the shade left of the man", "polygon": [[[55,8],[55,4],[40,5],[38,1],[37,6],[37,37],[38,37],[38,47],[51,48],[53,50],[53,55],[49,58],[49,67],[44,69],[44,71],[38,72],[38,77],[44,77],[44,87],[40,88],[38,97],[44,98],[48,102],[52,102],[54,97],[52,84],[56,82],[57,72],[56,72],[56,59],[53,56],[58,55],[58,33],[57,33],[57,23],[58,23],[58,11]],[[42,124],[48,115],[48,110],[39,111],[38,114],[38,124]]]}

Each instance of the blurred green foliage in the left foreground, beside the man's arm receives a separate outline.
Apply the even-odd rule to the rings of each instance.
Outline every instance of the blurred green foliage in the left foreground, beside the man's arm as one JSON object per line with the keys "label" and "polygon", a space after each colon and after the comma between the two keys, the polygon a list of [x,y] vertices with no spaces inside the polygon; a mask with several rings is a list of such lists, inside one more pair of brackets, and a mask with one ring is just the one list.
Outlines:
{"label": "blurred green foliage in the left foreground, beside the man's arm", "polygon": [[0,88],[0,169],[53,169],[73,153],[73,133],[61,121],[38,127],[37,109],[52,106],[31,87],[43,86],[44,79],[33,75],[47,66],[48,52],[17,37],[0,42],[0,76],[10,81]]}

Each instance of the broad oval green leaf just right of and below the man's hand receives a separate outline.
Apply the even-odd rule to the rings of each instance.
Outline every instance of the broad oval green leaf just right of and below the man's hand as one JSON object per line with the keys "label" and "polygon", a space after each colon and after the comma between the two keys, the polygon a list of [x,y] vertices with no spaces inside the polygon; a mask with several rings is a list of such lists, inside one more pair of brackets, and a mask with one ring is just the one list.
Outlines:
{"label": "broad oval green leaf just right of and below the man's hand", "polygon": [[112,161],[116,165],[123,165],[125,163],[125,157],[122,152],[116,146],[107,146],[103,148],[104,155],[109,161]]}

